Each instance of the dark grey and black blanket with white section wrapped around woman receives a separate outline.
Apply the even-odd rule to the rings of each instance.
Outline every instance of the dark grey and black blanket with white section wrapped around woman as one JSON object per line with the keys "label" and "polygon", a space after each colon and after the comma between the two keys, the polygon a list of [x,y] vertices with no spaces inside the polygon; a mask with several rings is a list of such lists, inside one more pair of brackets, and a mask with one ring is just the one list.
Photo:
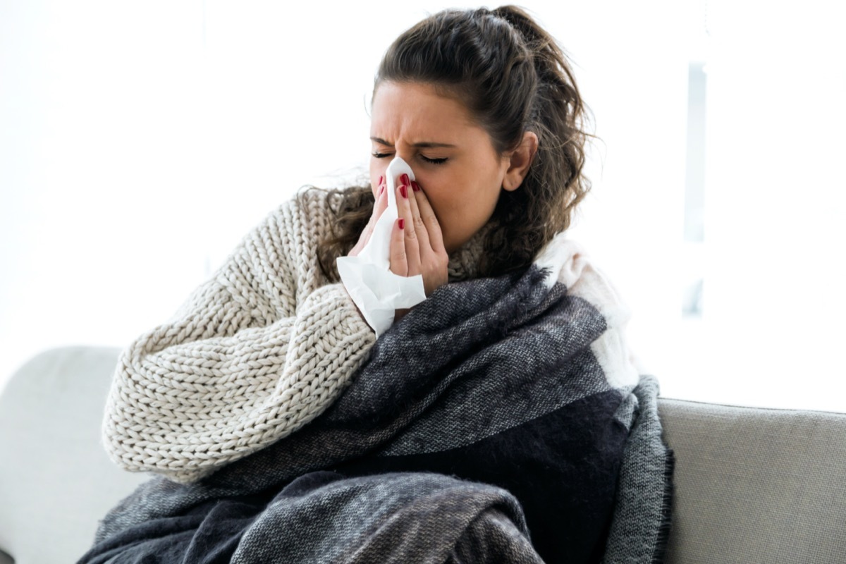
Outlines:
{"label": "dark grey and black blanket with white section wrapped around woman", "polygon": [[142,485],[80,562],[659,561],[657,385],[618,358],[601,280],[562,264],[440,288],[327,412],[199,483]]}

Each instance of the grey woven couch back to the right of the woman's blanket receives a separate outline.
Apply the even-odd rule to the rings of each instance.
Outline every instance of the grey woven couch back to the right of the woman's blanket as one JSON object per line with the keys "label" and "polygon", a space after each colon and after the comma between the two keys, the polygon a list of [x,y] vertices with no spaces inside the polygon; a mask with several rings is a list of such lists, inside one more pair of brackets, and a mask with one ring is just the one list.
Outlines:
{"label": "grey woven couch back to the right of the woman's blanket", "polygon": [[846,413],[662,399],[667,562],[846,562]]}

